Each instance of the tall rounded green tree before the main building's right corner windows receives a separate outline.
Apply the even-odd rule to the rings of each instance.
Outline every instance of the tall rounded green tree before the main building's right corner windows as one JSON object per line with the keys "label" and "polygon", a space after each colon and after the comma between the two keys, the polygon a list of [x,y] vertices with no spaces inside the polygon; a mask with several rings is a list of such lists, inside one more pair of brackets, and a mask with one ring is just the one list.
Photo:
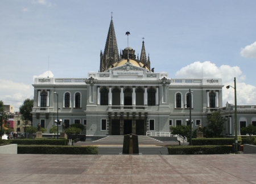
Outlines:
{"label": "tall rounded green tree before the main building's right corner windows", "polygon": [[225,120],[221,117],[220,112],[213,112],[207,117],[207,126],[205,130],[207,130],[208,134],[212,134],[214,137],[219,137],[224,130],[224,122]]}

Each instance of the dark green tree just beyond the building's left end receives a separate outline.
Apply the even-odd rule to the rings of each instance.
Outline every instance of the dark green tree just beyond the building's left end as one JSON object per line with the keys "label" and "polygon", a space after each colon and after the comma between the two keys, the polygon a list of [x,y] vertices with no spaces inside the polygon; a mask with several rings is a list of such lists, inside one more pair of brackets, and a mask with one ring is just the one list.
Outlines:
{"label": "dark green tree just beyond the building's left end", "polygon": [[24,100],[22,106],[19,107],[19,112],[20,114],[22,114],[21,119],[24,120],[28,120],[31,121],[31,125],[32,125],[32,108],[33,108],[33,103],[34,100],[32,99],[26,99]]}

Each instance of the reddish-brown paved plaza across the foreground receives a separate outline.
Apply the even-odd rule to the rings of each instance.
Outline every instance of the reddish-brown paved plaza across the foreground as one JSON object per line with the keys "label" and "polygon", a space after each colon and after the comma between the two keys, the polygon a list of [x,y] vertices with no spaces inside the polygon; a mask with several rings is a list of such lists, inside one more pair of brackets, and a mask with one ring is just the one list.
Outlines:
{"label": "reddish-brown paved plaza across the foreground", "polygon": [[0,184],[256,183],[256,155],[1,155]]}

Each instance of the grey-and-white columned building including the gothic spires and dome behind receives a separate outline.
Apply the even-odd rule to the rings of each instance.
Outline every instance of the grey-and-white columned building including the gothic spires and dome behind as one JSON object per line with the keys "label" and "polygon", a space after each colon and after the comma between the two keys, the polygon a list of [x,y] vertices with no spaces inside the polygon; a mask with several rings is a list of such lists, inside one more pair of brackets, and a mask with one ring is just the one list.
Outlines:
{"label": "grey-and-white columned building including the gothic spires and dome behind", "polygon": [[[170,126],[185,125],[190,107],[193,127],[204,126],[213,110],[225,111],[221,79],[174,79],[167,72],[155,72],[151,65],[156,63],[151,63],[144,44],[140,56],[133,48],[119,53],[111,19],[99,72],[84,78],[35,78],[33,126],[40,123],[49,130],[56,124],[57,102],[61,123],[66,128],[83,124],[86,136],[170,132]],[[226,126],[233,134],[230,121]]]}

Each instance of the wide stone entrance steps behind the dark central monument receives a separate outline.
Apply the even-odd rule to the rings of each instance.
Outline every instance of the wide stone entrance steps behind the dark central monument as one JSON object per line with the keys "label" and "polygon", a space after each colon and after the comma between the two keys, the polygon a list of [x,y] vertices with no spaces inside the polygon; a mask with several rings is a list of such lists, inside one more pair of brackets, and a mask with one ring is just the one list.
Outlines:
{"label": "wide stone entrance steps behind the dark central monument", "polygon": [[[156,144],[156,143],[163,143],[160,140],[156,140],[154,138],[150,138],[146,135],[138,135],[139,144]],[[123,135],[109,135],[105,138],[98,139],[93,141],[93,143],[120,143],[123,144]]]}

